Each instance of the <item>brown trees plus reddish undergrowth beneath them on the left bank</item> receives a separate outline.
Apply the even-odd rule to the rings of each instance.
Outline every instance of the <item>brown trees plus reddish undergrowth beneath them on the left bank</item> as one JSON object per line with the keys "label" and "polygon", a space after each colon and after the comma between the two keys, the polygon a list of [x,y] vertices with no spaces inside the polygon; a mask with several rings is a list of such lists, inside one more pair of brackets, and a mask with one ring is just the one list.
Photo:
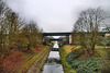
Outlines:
{"label": "brown trees plus reddish undergrowth beneath them on the left bank", "polygon": [[26,23],[0,0],[0,73],[13,73],[42,50],[36,23]]}

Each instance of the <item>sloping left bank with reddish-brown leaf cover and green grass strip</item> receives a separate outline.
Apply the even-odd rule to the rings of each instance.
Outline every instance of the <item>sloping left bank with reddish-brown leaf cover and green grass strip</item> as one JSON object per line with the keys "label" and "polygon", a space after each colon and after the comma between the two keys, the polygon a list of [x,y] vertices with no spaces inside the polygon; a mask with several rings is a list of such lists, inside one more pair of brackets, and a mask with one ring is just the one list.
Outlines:
{"label": "sloping left bank with reddish-brown leaf cover and green grass strip", "polygon": [[41,60],[43,53],[50,51],[50,46],[38,46],[33,51],[23,52],[18,49],[12,49],[10,54],[4,59],[0,58],[0,73],[26,73],[28,70],[36,60]]}

